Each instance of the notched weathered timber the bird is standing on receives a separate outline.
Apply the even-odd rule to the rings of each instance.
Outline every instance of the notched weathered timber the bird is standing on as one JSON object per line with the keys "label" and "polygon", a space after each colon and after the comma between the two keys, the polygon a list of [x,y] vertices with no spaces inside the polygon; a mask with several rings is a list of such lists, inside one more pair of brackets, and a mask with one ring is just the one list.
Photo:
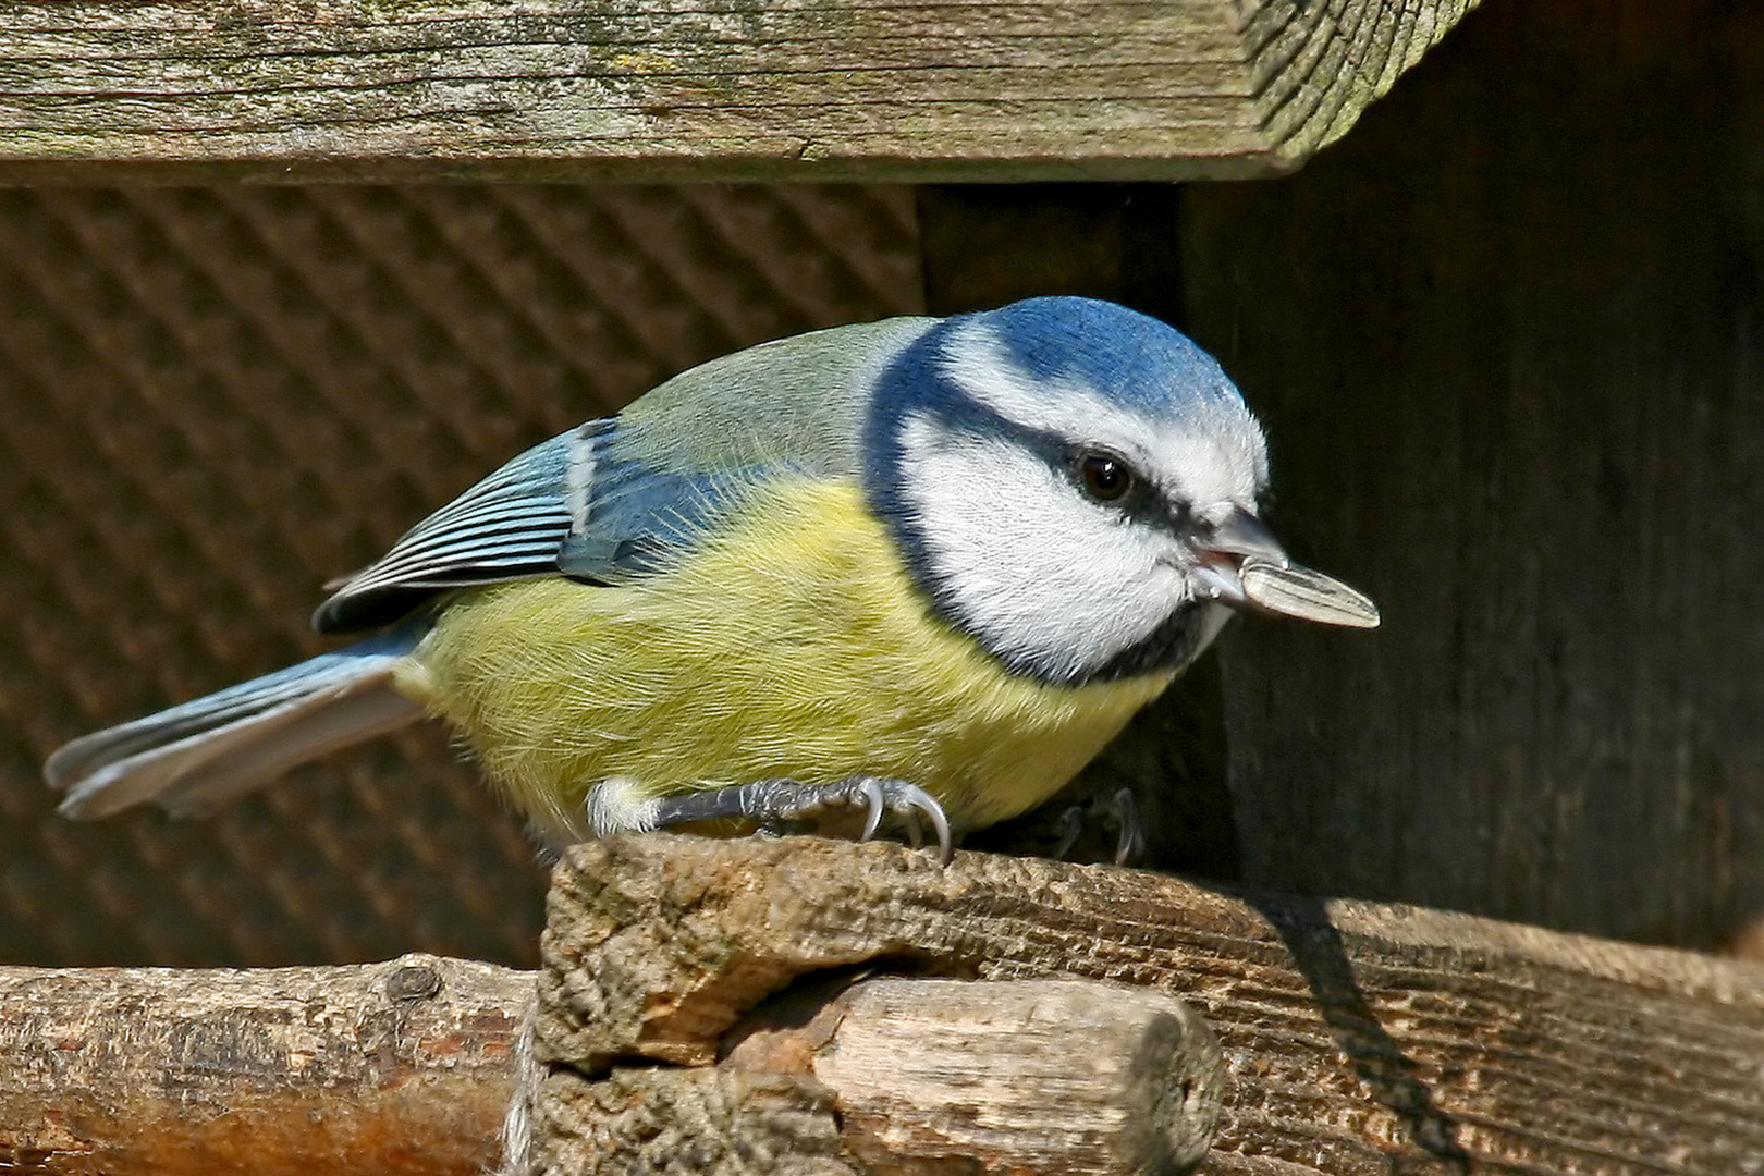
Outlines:
{"label": "notched weathered timber the bird is standing on", "polygon": [[1203,1010],[1201,1171],[1764,1172],[1764,968],[1466,915],[790,837],[609,839],[554,880],[536,1051],[707,1067],[767,994],[886,964],[1101,979]]}

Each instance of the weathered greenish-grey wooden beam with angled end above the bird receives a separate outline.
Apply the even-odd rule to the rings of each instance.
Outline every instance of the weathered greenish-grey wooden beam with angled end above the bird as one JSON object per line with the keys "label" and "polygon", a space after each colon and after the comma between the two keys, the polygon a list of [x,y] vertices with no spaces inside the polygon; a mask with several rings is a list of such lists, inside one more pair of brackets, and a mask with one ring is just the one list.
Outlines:
{"label": "weathered greenish-grey wooden beam with angled end above the bird", "polygon": [[0,180],[1289,171],[1475,0],[0,4]]}

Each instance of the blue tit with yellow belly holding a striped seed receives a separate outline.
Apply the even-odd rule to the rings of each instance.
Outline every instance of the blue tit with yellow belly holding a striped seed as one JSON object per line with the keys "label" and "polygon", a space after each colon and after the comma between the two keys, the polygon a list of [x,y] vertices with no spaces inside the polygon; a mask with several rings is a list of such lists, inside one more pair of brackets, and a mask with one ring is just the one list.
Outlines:
{"label": "blue tit with yellow belly holding a striped seed", "polygon": [[1108,301],[781,339],[515,457],[314,617],[377,635],[44,772],[71,816],[201,813],[432,716],[550,843],[923,818],[947,855],[1233,612],[1378,622],[1286,557],[1267,481],[1219,365]]}

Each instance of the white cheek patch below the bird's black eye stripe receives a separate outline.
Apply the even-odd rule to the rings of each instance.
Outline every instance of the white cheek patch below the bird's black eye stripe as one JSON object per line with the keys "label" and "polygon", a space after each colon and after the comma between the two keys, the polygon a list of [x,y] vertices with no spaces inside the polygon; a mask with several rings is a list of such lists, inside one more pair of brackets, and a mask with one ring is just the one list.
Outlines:
{"label": "white cheek patch below the bird's black eye stripe", "polygon": [[1000,437],[901,427],[901,488],[931,580],[961,624],[1007,661],[1081,677],[1152,636],[1187,599],[1143,525],[1083,499]]}

